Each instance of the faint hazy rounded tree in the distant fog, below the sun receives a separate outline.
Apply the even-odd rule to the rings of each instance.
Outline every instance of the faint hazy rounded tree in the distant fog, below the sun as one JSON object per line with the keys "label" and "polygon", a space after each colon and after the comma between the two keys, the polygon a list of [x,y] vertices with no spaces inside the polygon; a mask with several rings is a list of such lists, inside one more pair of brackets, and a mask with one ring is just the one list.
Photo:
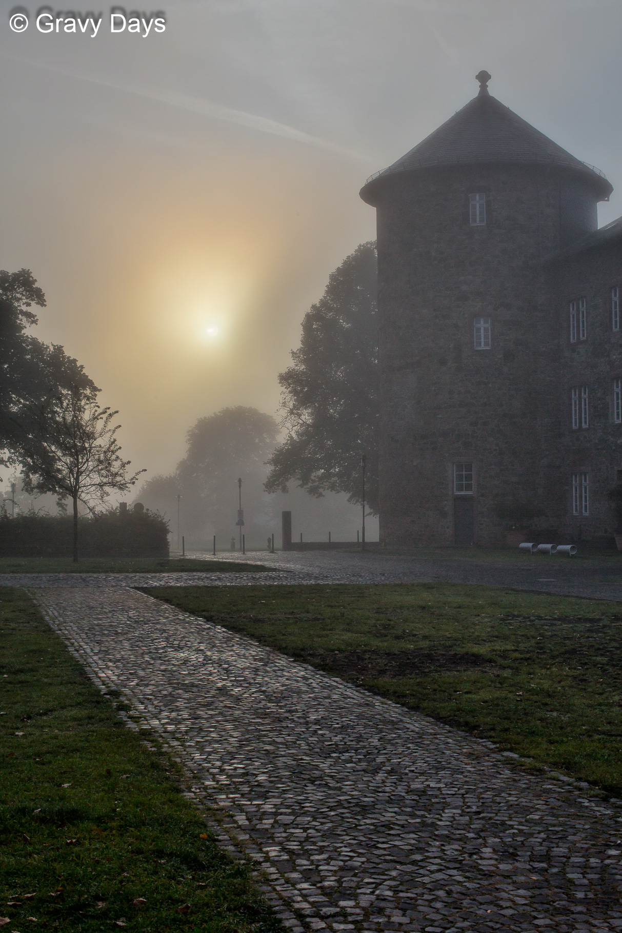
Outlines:
{"label": "faint hazy rounded tree in the distant fog, below the sun", "polygon": [[265,462],[274,451],[278,426],[272,415],[238,405],[208,415],[187,434],[188,452],[175,473],[143,484],[137,497],[149,508],[177,516],[177,494],[185,533],[195,543],[213,532],[222,541],[235,531],[237,478],[244,480],[245,518],[259,515]]}

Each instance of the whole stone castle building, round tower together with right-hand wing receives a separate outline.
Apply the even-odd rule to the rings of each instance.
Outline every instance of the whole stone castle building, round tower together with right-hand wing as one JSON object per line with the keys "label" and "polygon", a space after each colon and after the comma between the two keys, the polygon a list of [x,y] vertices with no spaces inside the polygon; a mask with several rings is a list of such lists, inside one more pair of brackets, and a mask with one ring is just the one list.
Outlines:
{"label": "whole stone castle building, round tower together with right-hand wing", "polygon": [[480,91],[360,191],[377,214],[380,537],[612,538],[622,483],[613,188]]}

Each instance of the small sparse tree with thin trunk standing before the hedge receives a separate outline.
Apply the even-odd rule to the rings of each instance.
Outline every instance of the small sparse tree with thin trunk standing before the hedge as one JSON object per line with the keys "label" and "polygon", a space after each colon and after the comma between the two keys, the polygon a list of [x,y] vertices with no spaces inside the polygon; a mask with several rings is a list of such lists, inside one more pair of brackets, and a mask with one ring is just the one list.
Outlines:
{"label": "small sparse tree with thin trunk standing before the hedge", "polygon": [[[74,507],[74,561],[78,561],[78,502],[90,511],[110,492],[125,493],[145,470],[128,476],[129,460],[120,456],[112,425],[118,411],[100,408],[95,392],[79,385],[50,395],[32,406],[27,430],[21,432],[23,488],[27,493],[54,493]],[[26,425],[22,425],[25,427]]]}

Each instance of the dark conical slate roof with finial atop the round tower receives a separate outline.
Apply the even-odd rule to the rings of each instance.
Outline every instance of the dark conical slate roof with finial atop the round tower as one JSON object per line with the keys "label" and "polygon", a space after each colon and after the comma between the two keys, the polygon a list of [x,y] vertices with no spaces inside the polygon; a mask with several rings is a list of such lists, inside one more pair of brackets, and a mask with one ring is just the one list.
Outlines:
{"label": "dark conical slate roof with finial atop the round tower", "polygon": [[575,159],[543,132],[518,117],[488,93],[487,72],[477,76],[478,95],[449,118],[438,130],[393,162],[388,169],[367,179],[360,197],[375,202],[377,188],[384,187],[389,175],[412,172],[434,165],[482,164],[486,162],[557,165],[588,176],[601,198],[608,198],[613,187],[599,169]]}

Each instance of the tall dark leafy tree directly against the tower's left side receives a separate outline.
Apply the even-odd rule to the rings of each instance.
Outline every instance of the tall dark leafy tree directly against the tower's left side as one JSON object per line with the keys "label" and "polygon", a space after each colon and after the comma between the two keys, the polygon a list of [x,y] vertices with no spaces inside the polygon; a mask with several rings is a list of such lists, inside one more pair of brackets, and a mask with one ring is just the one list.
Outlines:
{"label": "tall dark leafy tree directly against the tower's left side", "polygon": [[269,493],[294,480],[312,495],[347,493],[360,503],[364,453],[366,501],[377,514],[376,270],[375,244],[360,244],[304,315],[293,366],[278,377],[289,433],[269,461]]}

